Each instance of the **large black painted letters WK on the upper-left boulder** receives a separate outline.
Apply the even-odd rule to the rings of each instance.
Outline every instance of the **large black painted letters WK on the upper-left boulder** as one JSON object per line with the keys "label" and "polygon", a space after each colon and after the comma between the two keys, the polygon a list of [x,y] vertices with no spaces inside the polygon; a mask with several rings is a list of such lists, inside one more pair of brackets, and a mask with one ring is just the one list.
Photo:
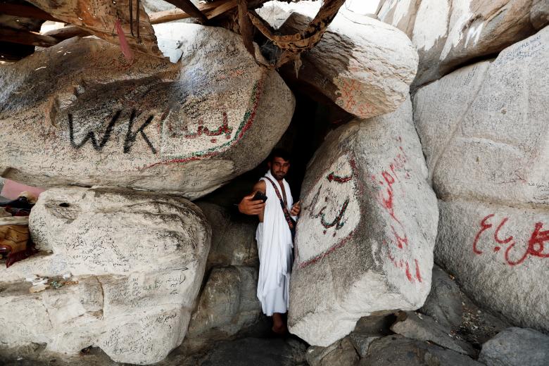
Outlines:
{"label": "large black painted letters WK on the upper-left boulder", "polygon": [[[107,144],[108,140],[111,138],[111,133],[113,132],[113,128],[118,121],[118,118],[120,118],[120,113],[122,111],[117,111],[113,118],[111,118],[111,122],[108,123],[107,129],[105,130],[105,133],[103,134],[103,137],[101,138],[101,141],[98,141],[93,131],[90,131],[86,134],[86,137],[80,141],[80,143],[77,143],[75,141],[75,127],[74,127],[74,121],[72,120],[72,114],[68,113],[68,125],[69,125],[69,136],[70,136],[70,144],[75,149],[80,149],[82,146],[84,146],[87,141],[92,142],[92,146],[96,151],[101,152],[103,147]],[[150,115],[149,118],[146,119],[146,121],[139,127],[136,131],[132,130],[132,127],[134,125],[135,115],[136,111],[132,110],[132,113],[130,114],[130,121],[127,125],[127,132],[126,137],[124,139],[124,153],[130,153],[132,150],[132,146],[135,143],[135,140],[137,139],[137,134],[141,134],[141,137],[144,139],[147,145],[149,145],[149,148],[153,153],[156,153],[156,149],[154,148],[153,144],[149,140],[149,137],[145,134],[145,129],[147,126],[149,126],[154,118],[153,115]]]}

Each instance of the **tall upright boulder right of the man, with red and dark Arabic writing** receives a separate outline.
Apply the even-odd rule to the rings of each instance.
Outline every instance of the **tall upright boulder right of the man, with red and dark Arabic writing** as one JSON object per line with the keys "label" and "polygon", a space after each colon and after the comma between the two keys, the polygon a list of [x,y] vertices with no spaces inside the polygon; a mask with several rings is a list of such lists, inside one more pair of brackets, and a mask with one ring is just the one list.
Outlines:
{"label": "tall upright boulder right of the man, with red and dark Arabic writing", "polygon": [[422,306],[438,208],[410,99],[394,113],[329,134],[308,165],[301,197],[292,333],[328,346],[362,316]]}

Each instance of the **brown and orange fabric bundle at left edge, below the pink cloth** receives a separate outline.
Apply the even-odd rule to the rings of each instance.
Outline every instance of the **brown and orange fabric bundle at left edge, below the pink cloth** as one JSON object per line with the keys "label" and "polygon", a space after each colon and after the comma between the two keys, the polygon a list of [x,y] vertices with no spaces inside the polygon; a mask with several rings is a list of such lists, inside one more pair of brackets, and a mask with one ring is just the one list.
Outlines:
{"label": "brown and orange fabric bundle at left edge, below the pink cloth", "polygon": [[6,267],[37,253],[28,225],[28,216],[0,217],[0,253],[7,255]]}

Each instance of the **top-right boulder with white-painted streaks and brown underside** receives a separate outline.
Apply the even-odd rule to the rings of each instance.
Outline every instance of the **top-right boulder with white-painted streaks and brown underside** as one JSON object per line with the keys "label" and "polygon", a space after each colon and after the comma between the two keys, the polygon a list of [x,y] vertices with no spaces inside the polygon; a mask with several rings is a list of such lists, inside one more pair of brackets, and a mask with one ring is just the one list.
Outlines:
{"label": "top-right boulder with white-painted streaks and brown underside", "polygon": [[545,0],[385,0],[378,13],[412,39],[419,53],[415,86],[529,37],[548,15]]}

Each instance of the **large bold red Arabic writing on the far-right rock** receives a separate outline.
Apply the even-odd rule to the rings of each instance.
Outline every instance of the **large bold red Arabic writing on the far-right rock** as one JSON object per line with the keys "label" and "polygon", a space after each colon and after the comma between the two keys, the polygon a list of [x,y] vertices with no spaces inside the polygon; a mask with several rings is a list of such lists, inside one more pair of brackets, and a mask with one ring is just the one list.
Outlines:
{"label": "large bold red Arabic writing on the far-right rock", "polygon": [[[486,217],[484,217],[480,222],[481,228],[479,229],[479,232],[477,232],[477,235],[474,237],[473,241],[473,252],[477,255],[484,253],[479,249],[479,239],[482,234],[486,232],[486,230],[493,227],[493,224],[497,222],[488,222],[494,216],[495,215],[493,213],[486,215]],[[499,222],[499,225],[496,227],[496,230],[493,232],[493,240],[496,244],[498,244],[493,247],[493,251],[497,253],[504,245],[508,244],[503,255],[503,258],[505,258],[505,262],[508,265],[519,265],[523,263],[529,255],[538,258],[549,258],[549,253],[545,253],[545,241],[549,241],[549,230],[541,231],[543,227],[542,222],[536,222],[536,224],[534,224],[534,230],[532,231],[530,239],[527,241],[524,253],[517,256],[516,254],[520,253],[519,248],[517,247],[517,240],[515,240],[513,236],[507,236],[507,238],[501,238],[500,236],[500,230],[503,226],[505,226],[507,220],[509,220],[509,217],[503,217],[503,219]]]}

